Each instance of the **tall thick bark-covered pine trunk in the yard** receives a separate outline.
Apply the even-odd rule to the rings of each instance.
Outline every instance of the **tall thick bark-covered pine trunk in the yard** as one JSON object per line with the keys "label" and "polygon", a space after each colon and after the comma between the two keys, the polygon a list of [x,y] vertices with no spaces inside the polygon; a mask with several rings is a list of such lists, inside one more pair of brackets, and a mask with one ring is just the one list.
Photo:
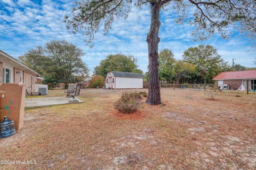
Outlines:
{"label": "tall thick bark-covered pine trunk in the yard", "polygon": [[159,27],[161,25],[159,20],[160,3],[151,2],[151,25],[147,35],[148,43],[148,99],[146,103],[149,105],[161,104],[160,96],[160,82],[159,82],[159,61],[158,61],[158,44],[160,38],[158,37]]}

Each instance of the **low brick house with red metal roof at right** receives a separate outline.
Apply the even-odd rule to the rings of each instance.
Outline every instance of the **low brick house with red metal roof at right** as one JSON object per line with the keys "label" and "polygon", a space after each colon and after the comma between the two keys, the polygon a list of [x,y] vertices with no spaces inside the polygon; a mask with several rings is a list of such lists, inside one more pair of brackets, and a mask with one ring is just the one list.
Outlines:
{"label": "low brick house with red metal roof at right", "polygon": [[256,90],[256,70],[222,72],[214,77],[213,80],[215,80],[215,84],[218,85],[221,90],[230,90],[233,88],[237,90],[241,85],[243,85],[246,90]]}

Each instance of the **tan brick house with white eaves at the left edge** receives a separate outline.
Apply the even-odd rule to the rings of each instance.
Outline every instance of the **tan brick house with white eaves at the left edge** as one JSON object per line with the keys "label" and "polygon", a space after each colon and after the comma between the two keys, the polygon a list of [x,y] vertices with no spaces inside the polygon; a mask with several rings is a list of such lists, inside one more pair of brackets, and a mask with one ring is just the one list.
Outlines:
{"label": "tan brick house with white eaves at the left edge", "polygon": [[36,84],[37,76],[40,76],[40,74],[0,50],[1,83],[24,83],[26,88],[31,87],[31,92],[35,93],[38,92],[38,86],[41,86]]}

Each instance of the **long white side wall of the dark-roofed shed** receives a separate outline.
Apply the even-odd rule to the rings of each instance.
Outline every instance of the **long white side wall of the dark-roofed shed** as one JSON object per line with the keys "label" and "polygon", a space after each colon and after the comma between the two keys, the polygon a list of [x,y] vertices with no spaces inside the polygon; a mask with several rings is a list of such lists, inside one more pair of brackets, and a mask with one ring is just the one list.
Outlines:
{"label": "long white side wall of the dark-roofed shed", "polygon": [[143,78],[125,78],[125,77],[116,77],[115,78],[116,89],[122,88],[143,88]]}

